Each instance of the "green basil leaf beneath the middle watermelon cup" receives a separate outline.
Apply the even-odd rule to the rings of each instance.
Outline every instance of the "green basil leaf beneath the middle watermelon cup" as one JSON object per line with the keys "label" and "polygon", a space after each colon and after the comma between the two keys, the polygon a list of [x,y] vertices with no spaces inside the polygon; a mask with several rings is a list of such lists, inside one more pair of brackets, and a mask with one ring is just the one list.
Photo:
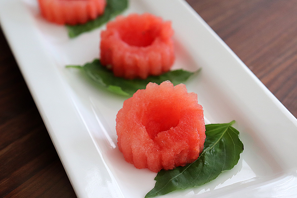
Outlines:
{"label": "green basil leaf beneath the middle watermelon cup", "polygon": [[66,67],[81,69],[86,76],[94,80],[98,85],[107,88],[108,91],[124,96],[131,96],[138,89],[145,89],[149,82],[160,84],[163,81],[170,80],[174,85],[184,83],[195,73],[178,69],[159,76],[149,76],[145,80],[127,80],[121,77],[115,77],[113,72],[106,69],[106,67],[103,66],[98,59],[95,59],[93,62],[87,63],[84,66],[69,65]]}

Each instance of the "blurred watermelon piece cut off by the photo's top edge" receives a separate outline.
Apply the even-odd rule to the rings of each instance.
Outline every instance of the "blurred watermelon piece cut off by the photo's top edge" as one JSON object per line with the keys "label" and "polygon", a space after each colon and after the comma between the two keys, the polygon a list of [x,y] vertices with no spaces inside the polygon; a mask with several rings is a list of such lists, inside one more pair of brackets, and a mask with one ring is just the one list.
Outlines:
{"label": "blurred watermelon piece cut off by the photo's top edge", "polygon": [[57,24],[83,24],[102,15],[106,0],[38,0],[42,16]]}

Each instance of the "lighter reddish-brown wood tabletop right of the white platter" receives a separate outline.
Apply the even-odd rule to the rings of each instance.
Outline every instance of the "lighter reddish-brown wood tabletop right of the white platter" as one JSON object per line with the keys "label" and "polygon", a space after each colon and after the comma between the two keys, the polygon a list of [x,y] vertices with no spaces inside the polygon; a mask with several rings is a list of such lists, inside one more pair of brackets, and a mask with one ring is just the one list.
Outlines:
{"label": "lighter reddish-brown wood tabletop right of the white platter", "polygon": [[297,117],[297,3],[187,0]]}

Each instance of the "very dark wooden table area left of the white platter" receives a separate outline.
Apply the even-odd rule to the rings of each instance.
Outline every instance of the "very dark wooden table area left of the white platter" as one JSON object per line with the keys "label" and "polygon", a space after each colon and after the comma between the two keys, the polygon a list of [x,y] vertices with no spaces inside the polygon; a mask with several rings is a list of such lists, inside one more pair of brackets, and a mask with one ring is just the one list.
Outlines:
{"label": "very dark wooden table area left of the white platter", "polygon": [[0,197],[76,197],[2,32]]}

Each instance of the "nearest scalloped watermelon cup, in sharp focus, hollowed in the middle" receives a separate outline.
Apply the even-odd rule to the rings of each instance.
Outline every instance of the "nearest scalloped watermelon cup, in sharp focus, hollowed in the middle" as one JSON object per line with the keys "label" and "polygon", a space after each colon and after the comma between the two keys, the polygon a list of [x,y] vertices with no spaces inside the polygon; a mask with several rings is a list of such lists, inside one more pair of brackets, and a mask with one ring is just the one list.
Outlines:
{"label": "nearest scalloped watermelon cup, in sharp focus, hollowed in the middle", "polygon": [[205,140],[203,109],[184,84],[149,83],[116,115],[118,147],[127,162],[153,172],[198,159]]}

